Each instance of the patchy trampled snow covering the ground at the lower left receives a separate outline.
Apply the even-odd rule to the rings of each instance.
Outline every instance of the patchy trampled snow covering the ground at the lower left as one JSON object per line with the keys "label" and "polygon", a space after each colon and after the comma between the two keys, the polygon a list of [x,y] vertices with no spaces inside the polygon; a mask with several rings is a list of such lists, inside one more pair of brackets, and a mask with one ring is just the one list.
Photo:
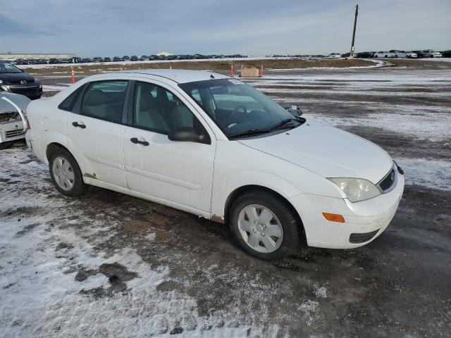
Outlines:
{"label": "patchy trampled snow covering the ground at the lower left", "polygon": [[[191,296],[157,290],[170,280],[168,268],[151,267],[130,247],[94,250],[121,220],[93,221],[80,201],[63,199],[30,151],[1,156],[0,187],[8,194],[0,196],[0,337],[276,337],[277,327],[263,333],[224,311],[200,316]],[[18,218],[23,211],[27,217]],[[83,223],[89,226],[80,229]]]}

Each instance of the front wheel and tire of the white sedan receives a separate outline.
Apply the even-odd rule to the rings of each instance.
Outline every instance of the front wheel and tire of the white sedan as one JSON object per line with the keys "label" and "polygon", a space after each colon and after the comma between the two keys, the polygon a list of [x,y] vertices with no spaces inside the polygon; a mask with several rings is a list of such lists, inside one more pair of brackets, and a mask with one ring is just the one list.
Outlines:
{"label": "front wheel and tire of the white sedan", "polygon": [[[249,217],[248,210],[255,214]],[[297,215],[286,201],[269,192],[252,190],[239,196],[230,208],[228,221],[237,244],[251,256],[273,261],[289,256],[299,245]]]}

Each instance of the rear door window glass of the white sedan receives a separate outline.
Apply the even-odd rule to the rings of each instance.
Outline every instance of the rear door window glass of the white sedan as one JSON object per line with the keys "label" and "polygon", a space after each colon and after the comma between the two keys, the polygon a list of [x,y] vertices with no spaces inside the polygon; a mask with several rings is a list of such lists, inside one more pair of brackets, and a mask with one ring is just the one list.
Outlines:
{"label": "rear door window glass of the white sedan", "polygon": [[92,82],[85,92],[82,115],[122,123],[122,113],[128,81]]}

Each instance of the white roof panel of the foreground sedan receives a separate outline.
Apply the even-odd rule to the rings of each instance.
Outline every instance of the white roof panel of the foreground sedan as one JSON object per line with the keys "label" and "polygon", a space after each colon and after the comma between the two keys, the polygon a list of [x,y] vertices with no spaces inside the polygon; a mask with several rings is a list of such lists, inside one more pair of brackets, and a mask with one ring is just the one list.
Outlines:
{"label": "white roof panel of the foreground sedan", "polygon": [[123,70],[121,73],[133,73],[140,75],[154,75],[165,77],[177,83],[186,83],[194,81],[204,81],[214,79],[225,79],[227,75],[214,73],[209,70],[184,70],[184,69],[138,69]]}

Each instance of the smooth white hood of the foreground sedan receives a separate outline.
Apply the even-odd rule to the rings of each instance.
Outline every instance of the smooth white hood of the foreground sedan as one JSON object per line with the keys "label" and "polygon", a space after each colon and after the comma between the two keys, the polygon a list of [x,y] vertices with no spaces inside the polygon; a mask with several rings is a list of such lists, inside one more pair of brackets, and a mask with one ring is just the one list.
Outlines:
{"label": "smooth white hood of the foreground sedan", "polygon": [[357,177],[376,184],[393,167],[393,159],[381,147],[320,123],[239,142],[323,177]]}

